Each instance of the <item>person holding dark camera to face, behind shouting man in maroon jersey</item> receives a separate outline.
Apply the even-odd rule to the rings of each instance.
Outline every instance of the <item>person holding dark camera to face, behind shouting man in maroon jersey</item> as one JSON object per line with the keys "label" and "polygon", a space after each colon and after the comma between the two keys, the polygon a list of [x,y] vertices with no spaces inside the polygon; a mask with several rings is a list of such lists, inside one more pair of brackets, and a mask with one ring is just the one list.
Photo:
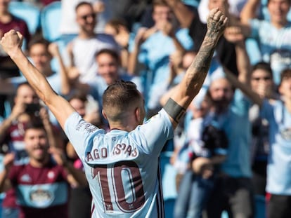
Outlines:
{"label": "person holding dark camera to face, behind shouting man in maroon jersey", "polygon": [[[0,125],[0,144],[2,152],[14,154],[15,165],[27,163],[28,156],[24,143],[25,126],[39,118],[48,131],[50,143],[55,147],[63,147],[63,141],[49,121],[46,109],[40,107],[39,98],[28,83],[18,86],[14,102],[15,105],[10,116],[4,119]],[[6,192],[2,213],[2,217],[17,216],[16,214],[19,213],[13,189]]]}

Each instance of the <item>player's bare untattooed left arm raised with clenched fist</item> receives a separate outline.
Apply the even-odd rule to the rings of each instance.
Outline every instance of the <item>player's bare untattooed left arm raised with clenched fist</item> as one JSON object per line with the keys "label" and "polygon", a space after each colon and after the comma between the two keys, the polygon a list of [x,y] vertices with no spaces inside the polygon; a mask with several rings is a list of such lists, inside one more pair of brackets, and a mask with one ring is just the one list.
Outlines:
{"label": "player's bare untattooed left arm raised with clenched fist", "polygon": [[22,35],[15,30],[10,30],[2,37],[0,43],[5,52],[17,64],[22,74],[30,83],[32,88],[37,92],[37,95],[44,101],[49,109],[58,119],[62,127],[65,125],[65,120],[75,109],[63,97],[57,95],[51,86],[46,81],[46,78],[41,74],[27,59],[21,50]]}

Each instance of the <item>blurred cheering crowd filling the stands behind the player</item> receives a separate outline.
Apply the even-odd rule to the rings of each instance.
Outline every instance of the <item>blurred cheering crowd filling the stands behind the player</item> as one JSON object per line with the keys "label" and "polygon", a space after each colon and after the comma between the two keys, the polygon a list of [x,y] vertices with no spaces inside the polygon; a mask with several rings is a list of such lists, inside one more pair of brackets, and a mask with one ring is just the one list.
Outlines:
{"label": "blurred cheering crowd filling the stands behind the player", "polygon": [[[39,25],[15,15],[17,4],[37,8]],[[53,90],[85,121],[109,131],[102,114],[107,86],[133,81],[146,117],[155,115],[203,52],[209,11],[221,9],[228,27],[207,79],[164,145],[177,172],[173,217],[215,218],[223,211],[254,217],[255,196],[266,198],[266,216],[291,217],[290,6],[290,0],[0,0],[0,37],[20,32],[22,50]],[[47,17],[44,25],[44,13],[56,8],[60,20]],[[0,217],[91,217],[81,161],[1,47],[0,147],[1,167],[11,172],[9,186],[0,175]],[[50,178],[29,162],[47,157],[39,168],[51,170]]]}

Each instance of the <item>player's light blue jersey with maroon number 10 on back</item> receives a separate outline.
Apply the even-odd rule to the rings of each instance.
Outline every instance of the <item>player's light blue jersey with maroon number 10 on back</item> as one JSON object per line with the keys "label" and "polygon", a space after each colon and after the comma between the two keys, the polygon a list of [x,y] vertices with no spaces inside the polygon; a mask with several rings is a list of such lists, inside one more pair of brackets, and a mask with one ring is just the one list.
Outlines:
{"label": "player's light blue jersey with maroon number 10 on back", "polygon": [[92,217],[164,217],[159,156],[173,131],[164,109],[131,132],[106,133],[77,113],[67,119],[65,133],[93,196]]}

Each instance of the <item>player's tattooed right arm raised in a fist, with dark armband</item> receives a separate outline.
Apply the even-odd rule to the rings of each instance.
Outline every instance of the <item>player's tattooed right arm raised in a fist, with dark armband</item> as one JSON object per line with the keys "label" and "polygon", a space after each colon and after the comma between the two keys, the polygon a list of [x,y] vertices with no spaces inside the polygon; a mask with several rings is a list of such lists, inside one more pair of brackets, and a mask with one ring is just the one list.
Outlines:
{"label": "player's tattooed right arm raised in a fist, with dark armband", "polygon": [[187,69],[176,92],[171,95],[164,105],[164,109],[169,114],[174,127],[179,123],[179,118],[185,113],[190,102],[192,102],[202,87],[209,70],[216,43],[223,34],[226,24],[226,16],[218,8],[214,8],[207,19],[207,33],[197,56]]}

